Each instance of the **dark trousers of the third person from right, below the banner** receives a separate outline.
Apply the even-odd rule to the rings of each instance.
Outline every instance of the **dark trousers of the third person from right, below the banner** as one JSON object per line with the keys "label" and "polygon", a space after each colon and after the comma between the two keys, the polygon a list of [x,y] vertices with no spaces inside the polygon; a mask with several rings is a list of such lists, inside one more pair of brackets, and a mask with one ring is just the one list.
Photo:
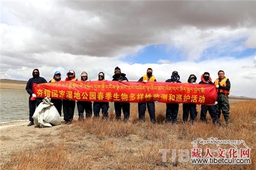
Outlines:
{"label": "dark trousers of the third person from right, below the banner", "polygon": [[183,122],[187,122],[188,114],[190,113],[190,122],[193,123],[194,120],[197,118],[197,105],[184,103],[182,107],[183,107],[183,116],[182,116]]}

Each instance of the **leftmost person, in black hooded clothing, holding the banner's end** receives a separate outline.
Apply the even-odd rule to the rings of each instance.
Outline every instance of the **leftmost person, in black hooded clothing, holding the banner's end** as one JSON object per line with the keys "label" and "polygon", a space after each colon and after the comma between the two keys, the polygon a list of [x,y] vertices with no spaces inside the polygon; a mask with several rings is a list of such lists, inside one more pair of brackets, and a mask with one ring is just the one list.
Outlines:
{"label": "leftmost person, in black hooded clothing, holding the banner's end", "polygon": [[35,68],[32,71],[33,78],[30,78],[27,82],[26,90],[29,93],[29,121],[28,126],[34,125],[33,114],[35,112],[36,107],[42,102],[42,98],[37,98],[36,94],[33,92],[33,83],[47,83],[45,78],[40,77],[39,70]]}

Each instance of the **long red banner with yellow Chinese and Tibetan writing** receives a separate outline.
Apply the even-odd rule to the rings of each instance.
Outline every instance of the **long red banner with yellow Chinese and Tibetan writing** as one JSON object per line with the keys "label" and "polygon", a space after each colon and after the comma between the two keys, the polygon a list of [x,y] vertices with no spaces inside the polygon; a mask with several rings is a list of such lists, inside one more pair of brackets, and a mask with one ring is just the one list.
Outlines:
{"label": "long red banner with yellow Chinese and Tibetan writing", "polygon": [[166,82],[61,81],[33,84],[38,98],[100,102],[163,102],[213,105],[214,85]]}

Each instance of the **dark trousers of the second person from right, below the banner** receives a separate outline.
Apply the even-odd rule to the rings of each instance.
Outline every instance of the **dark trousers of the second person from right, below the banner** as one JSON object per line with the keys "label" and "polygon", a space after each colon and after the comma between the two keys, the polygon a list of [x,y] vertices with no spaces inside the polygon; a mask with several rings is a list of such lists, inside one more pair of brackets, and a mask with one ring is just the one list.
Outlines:
{"label": "dark trousers of the second person from right, below the banner", "polygon": [[200,119],[203,122],[206,122],[207,111],[209,111],[210,117],[212,119],[212,123],[214,123],[214,124],[219,123],[218,113],[217,113],[216,107],[214,105],[202,105]]}

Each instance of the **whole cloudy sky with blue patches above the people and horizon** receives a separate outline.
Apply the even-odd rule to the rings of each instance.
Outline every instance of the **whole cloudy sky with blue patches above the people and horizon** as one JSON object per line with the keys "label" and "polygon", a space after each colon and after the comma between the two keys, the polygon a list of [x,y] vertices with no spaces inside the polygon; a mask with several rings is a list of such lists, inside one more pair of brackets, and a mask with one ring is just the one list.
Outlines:
{"label": "whole cloudy sky with blue patches above the people and horizon", "polygon": [[130,81],[148,67],[157,81],[173,70],[212,79],[225,71],[232,95],[256,97],[255,1],[1,1],[1,79],[48,81],[74,69]]}

